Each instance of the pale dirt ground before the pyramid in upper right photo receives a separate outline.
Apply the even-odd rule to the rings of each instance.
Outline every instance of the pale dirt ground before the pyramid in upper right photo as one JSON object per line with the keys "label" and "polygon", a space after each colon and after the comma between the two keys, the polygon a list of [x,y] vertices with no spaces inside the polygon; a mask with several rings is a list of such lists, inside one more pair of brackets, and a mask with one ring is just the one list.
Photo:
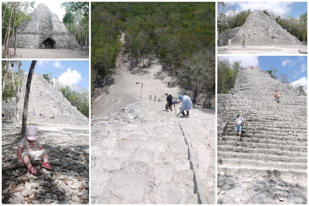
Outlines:
{"label": "pale dirt ground before the pyramid in upper right photo", "polygon": [[[245,49],[241,45],[218,46],[218,54],[300,54],[301,51],[307,51],[307,45],[271,45],[271,46],[246,46]],[[306,54],[302,54],[306,55]]]}

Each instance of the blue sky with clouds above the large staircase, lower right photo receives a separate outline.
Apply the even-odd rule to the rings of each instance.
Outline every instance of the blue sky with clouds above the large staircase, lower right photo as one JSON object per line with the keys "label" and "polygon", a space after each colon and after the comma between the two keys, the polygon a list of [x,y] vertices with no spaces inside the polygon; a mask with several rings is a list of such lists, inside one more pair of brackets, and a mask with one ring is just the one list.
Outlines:
{"label": "blue sky with clouds above the large staircase, lower right photo", "polygon": [[258,66],[263,70],[277,69],[278,77],[286,74],[290,82],[301,84],[307,91],[307,56],[228,56],[230,62],[241,61],[241,66]]}

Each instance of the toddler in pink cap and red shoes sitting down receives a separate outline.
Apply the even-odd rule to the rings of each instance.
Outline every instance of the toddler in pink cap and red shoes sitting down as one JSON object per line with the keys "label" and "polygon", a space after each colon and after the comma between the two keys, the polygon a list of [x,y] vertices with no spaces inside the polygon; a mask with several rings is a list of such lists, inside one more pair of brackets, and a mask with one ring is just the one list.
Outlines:
{"label": "toddler in pink cap and red shoes sitting down", "polygon": [[40,141],[37,139],[38,130],[35,126],[28,126],[26,128],[25,137],[19,143],[17,148],[17,159],[19,163],[24,163],[28,168],[27,172],[33,175],[38,173],[38,169],[31,165],[31,161],[43,159],[41,167],[46,170],[53,171],[53,168],[48,163],[48,152],[42,147]]}

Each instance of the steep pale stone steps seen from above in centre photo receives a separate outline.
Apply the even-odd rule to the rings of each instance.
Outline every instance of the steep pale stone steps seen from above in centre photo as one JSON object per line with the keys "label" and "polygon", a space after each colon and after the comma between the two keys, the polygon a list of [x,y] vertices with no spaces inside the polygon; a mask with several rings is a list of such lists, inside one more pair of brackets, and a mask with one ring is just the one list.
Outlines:
{"label": "steep pale stone steps seen from above in centre photo", "polygon": [[[214,204],[214,111],[192,109],[180,118],[192,139],[190,154],[175,110],[164,105],[133,101],[105,118],[92,117],[92,204],[198,204],[201,192]],[[202,128],[206,120],[212,130]],[[193,156],[199,171],[193,172]],[[203,191],[197,191],[196,172]]]}

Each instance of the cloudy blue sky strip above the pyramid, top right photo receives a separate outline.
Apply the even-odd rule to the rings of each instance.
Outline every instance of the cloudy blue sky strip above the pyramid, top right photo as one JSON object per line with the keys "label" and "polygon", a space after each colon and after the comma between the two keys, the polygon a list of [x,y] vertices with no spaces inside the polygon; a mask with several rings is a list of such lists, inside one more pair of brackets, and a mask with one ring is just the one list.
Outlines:
{"label": "cloudy blue sky strip above the pyramid, top right photo", "polygon": [[[307,2],[224,2],[230,5],[230,10],[244,11],[265,10],[273,11],[276,15],[299,17],[307,11]],[[230,11],[229,10],[229,11]],[[228,13],[228,12],[227,12]]]}

